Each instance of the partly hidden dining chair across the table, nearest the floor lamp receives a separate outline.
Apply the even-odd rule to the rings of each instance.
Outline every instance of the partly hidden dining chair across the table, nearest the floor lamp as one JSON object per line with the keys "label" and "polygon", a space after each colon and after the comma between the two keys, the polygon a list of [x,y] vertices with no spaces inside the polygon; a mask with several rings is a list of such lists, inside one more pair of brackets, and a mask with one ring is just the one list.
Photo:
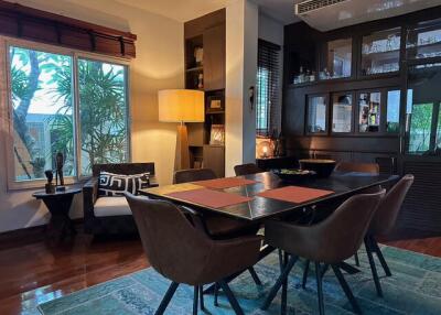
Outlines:
{"label": "partly hidden dining chair across the table, nearest the floor lamp", "polygon": [[[217,176],[211,169],[192,169],[176,171],[173,176],[174,184],[183,184],[197,181],[215,180]],[[259,224],[249,224],[241,220],[236,220],[225,216],[214,214],[198,214],[201,217],[203,229],[213,239],[232,239],[243,236],[256,235],[260,228]],[[250,267],[248,272],[251,274],[252,281],[257,285],[261,285],[261,281],[255,269]],[[217,306],[218,283],[214,287],[214,305]]]}

